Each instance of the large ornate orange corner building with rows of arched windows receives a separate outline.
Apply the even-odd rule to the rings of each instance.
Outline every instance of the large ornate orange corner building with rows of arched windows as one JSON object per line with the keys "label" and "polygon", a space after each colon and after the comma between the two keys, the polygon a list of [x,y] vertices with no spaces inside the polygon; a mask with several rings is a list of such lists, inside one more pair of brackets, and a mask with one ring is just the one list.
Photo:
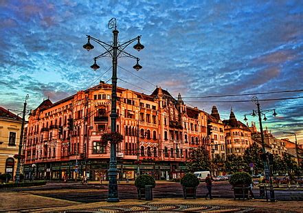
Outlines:
{"label": "large ornate orange corner building with rows of arched windows", "polygon": [[[179,178],[186,172],[190,148],[207,146],[207,113],[156,88],[151,95],[117,88],[117,145],[120,179],[141,174],[155,179]],[[78,91],[56,103],[43,101],[29,117],[25,144],[25,175],[38,179],[106,179],[110,145],[111,85]]]}

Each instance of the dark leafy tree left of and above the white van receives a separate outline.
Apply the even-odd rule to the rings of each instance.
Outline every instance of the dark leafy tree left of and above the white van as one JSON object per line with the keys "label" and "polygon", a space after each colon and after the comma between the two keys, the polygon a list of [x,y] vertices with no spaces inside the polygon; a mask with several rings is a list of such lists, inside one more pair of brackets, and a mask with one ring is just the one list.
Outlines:
{"label": "dark leafy tree left of and above the white van", "polygon": [[188,159],[187,166],[190,172],[210,170],[210,155],[203,146],[191,148]]}

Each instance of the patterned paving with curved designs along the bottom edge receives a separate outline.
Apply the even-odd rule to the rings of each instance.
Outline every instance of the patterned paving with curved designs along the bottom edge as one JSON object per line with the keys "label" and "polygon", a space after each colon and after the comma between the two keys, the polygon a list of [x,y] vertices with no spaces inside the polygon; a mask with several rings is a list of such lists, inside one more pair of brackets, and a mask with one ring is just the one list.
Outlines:
{"label": "patterned paving with curved designs along the bottom edge", "polygon": [[145,200],[123,200],[117,203],[85,203],[70,205],[67,207],[46,208],[36,210],[37,212],[65,211],[98,211],[98,212],[126,212],[148,210],[155,211],[178,211],[178,212],[303,212],[303,201],[291,202],[266,202],[264,200],[239,201],[234,199],[154,199]]}

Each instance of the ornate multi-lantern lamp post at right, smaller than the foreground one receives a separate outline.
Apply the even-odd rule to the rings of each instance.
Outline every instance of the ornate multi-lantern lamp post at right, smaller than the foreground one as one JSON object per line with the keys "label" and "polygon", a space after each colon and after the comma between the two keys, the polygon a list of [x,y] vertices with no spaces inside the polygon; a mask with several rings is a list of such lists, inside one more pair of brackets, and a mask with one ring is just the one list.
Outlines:
{"label": "ornate multi-lantern lamp post at right, smaller than the foreground one", "polygon": [[[256,96],[254,96],[253,98],[251,98],[251,101],[254,102],[257,105],[257,110],[253,110],[252,113],[246,114],[246,115],[252,115],[252,116],[256,116],[256,113],[258,114],[258,119],[259,119],[259,125],[260,125],[260,135],[261,135],[261,144],[262,144],[262,153],[263,156],[265,156],[265,158],[263,159],[263,165],[264,165],[264,175],[265,175],[265,179],[270,181],[270,195],[271,195],[271,201],[276,201],[275,199],[275,193],[273,190],[273,184],[272,184],[272,180],[271,180],[271,172],[269,171],[269,164],[268,164],[268,155],[266,153],[265,150],[265,142],[264,142],[264,134],[263,134],[263,127],[262,127],[262,116],[264,115],[263,120],[267,120],[266,117],[266,113],[273,111],[273,116],[276,117],[277,113],[276,113],[276,109],[269,109],[269,110],[261,110],[260,109],[260,103],[258,101],[258,98]],[[244,120],[245,122],[247,121],[247,117],[246,115],[244,115]]]}

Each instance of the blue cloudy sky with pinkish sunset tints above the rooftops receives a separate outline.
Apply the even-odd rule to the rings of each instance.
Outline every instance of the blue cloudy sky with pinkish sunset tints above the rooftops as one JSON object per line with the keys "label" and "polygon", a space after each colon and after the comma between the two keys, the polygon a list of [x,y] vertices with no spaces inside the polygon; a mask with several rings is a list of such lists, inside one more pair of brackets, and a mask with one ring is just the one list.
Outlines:
{"label": "blue cloudy sky with pinkish sunset tints above the rooftops", "polygon": [[[291,140],[283,132],[294,132],[303,144],[303,1],[0,0],[0,105],[22,110],[29,94],[27,109],[35,109],[111,83],[111,58],[93,71],[104,49],[82,45],[86,35],[111,43],[113,17],[119,42],[142,35],[145,46],[126,48],[140,58],[139,71],[133,58],[118,59],[119,87],[146,94],[161,87],[208,113],[216,105],[221,119],[232,109],[241,122],[257,96],[263,111],[278,113],[269,111],[263,127]],[[197,98],[234,94],[243,96]],[[269,100],[283,98],[290,99]]]}

